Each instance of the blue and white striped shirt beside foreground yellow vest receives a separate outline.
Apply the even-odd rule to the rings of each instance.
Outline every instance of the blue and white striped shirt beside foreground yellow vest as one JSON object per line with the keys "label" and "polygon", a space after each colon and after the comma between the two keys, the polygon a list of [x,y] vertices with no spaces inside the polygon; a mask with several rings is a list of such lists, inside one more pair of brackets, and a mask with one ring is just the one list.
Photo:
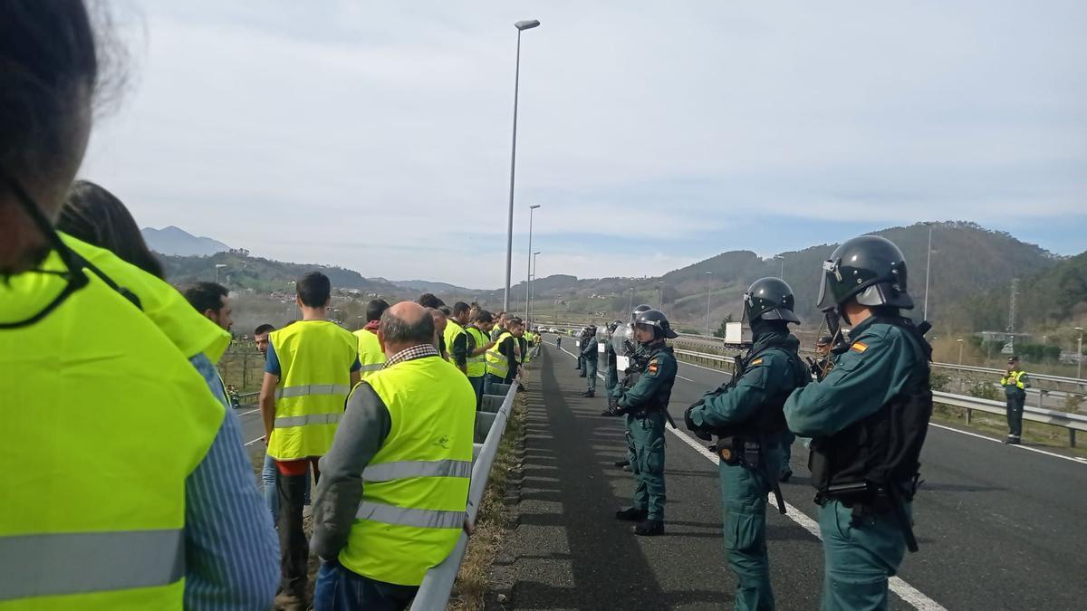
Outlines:
{"label": "blue and white striped shirt beside foreground yellow vest", "polygon": [[185,481],[185,608],[271,609],[279,584],[272,516],[215,365],[203,354],[189,361],[227,409],[208,454]]}

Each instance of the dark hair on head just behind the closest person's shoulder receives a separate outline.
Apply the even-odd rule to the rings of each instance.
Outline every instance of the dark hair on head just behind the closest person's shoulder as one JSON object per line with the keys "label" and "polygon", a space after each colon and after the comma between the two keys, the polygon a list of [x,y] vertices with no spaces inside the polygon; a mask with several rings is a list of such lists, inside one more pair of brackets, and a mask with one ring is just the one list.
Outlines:
{"label": "dark hair on head just behind the closest person's shoulder", "polygon": [[76,180],[61,207],[57,228],[104,248],[124,261],[158,277],[162,263],[147,247],[139,225],[113,194],[89,180]]}

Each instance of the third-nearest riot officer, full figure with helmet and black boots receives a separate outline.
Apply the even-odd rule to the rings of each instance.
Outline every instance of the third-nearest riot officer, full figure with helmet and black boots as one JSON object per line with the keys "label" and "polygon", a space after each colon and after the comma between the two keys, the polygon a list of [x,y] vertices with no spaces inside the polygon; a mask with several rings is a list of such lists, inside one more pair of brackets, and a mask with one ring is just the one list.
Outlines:
{"label": "third-nearest riot officer, full figure with helmet and black boots", "polygon": [[626,414],[630,467],[637,478],[634,504],[615,512],[615,518],[639,524],[641,536],[664,533],[664,423],[669,420],[669,398],[676,377],[676,359],[664,345],[675,332],[660,310],[646,310],[634,321],[634,336],[645,351],[645,366],[630,372],[620,389],[616,409]]}

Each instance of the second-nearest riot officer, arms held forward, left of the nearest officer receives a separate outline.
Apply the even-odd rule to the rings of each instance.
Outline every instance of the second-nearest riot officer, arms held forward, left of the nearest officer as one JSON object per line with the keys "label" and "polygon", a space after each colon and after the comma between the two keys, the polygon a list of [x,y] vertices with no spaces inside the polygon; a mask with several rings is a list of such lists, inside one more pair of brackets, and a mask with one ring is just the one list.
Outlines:
{"label": "second-nearest riot officer, arms held forward, left of the nearest officer", "polygon": [[717,436],[725,553],[736,573],[736,609],[773,609],[766,558],[766,495],[782,470],[782,407],[794,389],[811,381],[789,333],[799,323],[792,289],[779,278],[761,278],[744,294],[744,324],[754,344],[738,360],[732,381],[687,409],[686,424],[699,437]]}

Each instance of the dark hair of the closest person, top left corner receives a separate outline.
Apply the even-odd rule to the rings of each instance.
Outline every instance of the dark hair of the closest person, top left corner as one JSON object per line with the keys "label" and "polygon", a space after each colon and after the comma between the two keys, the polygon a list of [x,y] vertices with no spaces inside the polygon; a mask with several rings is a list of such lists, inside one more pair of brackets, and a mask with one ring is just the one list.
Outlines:
{"label": "dark hair of the closest person, top left corner", "polygon": [[72,165],[83,152],[72,150],[72,137],[98,77],[99,53],[83,0],[5,0],[0,172],[23,178],[25,186]]}

